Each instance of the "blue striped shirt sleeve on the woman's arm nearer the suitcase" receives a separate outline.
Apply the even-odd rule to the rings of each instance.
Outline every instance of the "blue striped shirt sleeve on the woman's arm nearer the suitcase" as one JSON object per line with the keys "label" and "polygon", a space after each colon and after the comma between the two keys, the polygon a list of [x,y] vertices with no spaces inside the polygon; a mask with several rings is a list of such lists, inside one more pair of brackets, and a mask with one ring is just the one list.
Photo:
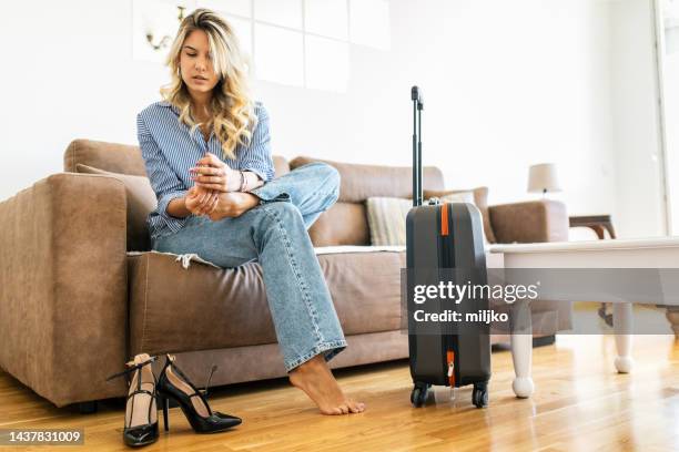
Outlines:
{"label": "blue striped shirt sleeve on the woman's arm nearer the suitcase", "polygon": [[261,103],[255,104],[257,124],[252,133],[250,145],[242,150],[240,170],[255,173],[264,182],[274,178],[274,163],[271,157],[271,134],[268,113]]}

